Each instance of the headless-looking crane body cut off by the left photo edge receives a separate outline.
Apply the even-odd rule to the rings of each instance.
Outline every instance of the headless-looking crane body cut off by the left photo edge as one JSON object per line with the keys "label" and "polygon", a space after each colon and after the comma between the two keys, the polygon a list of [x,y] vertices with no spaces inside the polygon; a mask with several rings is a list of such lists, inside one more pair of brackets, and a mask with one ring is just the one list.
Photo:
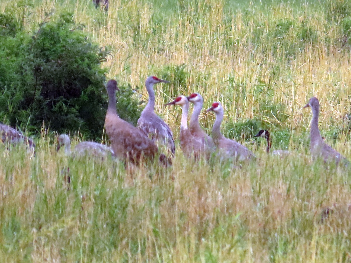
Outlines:
{"label": "headless-looking crane body cut off by the left photo edge", "polygon": [[14,128],[0,123],[0,134],[1,134],[1,141],[5,144],[16,145],[18,143],[26,143],[29,149],[34,151],[35,143],[32,139],[24,136],[19,131],[15,130]]}

